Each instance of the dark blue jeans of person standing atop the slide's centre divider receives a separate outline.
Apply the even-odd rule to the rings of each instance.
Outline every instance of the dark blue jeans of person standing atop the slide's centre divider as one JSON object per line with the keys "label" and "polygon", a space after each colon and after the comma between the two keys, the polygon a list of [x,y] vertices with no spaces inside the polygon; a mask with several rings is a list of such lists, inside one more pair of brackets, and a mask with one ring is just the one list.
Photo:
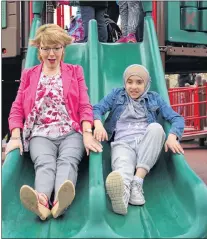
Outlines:
{"label": "dark blue jeans of person standing atop the slide's centre divider", "polygon": [[88,23],[91,19],[96,19],[98,24],[98,38],[100,42],[107,42],[108,32],[104,14],[106,8],[95,8],[90,6],[81,6],[81,17],[84,28],[84,41],[88,41]]}

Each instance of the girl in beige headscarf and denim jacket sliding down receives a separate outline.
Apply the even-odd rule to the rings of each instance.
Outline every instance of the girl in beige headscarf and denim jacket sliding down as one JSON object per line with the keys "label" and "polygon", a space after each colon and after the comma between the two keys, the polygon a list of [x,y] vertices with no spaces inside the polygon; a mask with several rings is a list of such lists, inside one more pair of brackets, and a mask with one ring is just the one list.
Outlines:
{"label": "girl in beige headscarf and denim jacket sliding down", "polygon": [[[144,178],[157,162],[165,132],[157,123],[160,113],[172,127],[165,143],[165,151],[184,151],[181,139],[184,119],[161,96],[150,89],[150,75],[142,65],[126,68],[124,88],[113,89],[93,107],[94,137],[111,142],[112,172],[106,179],[107,193],[115,213],[125,215],[128,203],[143,205]],[[104,127],[101,116],[109,113]],[[134,174],[135,172],[135,174]]]}

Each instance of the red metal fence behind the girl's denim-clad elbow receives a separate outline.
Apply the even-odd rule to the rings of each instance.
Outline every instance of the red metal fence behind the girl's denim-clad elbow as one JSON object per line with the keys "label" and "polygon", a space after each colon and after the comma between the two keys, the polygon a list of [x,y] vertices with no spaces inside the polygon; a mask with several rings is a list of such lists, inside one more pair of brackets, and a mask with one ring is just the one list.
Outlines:
{"label": "red metal fence behind the girl's denim-clad elbow", "polygon": [[172,108],[185,119],[184,138],[207,135],[207,83],[171,88],[168,93]]}

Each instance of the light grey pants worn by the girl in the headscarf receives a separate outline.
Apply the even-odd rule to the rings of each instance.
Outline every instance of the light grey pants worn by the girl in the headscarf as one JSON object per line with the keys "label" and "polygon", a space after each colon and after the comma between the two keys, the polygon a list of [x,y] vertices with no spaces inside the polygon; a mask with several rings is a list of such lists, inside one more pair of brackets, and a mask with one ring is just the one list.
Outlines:
{"label": "light grey pants worn by the girl in the headscarf", "polygon": [[120,172],[125,184],[130,186],[135,169],[144,168],[149,172],[154,166],[164,142],[165,132],[158,123],[149,124],[141,141],[112,142],[112,170]]}

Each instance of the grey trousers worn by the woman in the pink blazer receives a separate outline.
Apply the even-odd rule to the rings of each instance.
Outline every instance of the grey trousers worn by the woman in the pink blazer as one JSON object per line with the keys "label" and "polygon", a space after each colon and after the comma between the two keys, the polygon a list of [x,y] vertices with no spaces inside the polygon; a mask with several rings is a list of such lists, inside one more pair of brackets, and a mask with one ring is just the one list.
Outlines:
{"label": "grey trousers worn by the woman in the pink blazer", "polygon": [[53,190],[56,197],[65,180],[71,180],[75,186],[84,151],[83,137],[75,131],[57,140],[33,137],[30,155],[35,168],[35,189],[50,199]]}

